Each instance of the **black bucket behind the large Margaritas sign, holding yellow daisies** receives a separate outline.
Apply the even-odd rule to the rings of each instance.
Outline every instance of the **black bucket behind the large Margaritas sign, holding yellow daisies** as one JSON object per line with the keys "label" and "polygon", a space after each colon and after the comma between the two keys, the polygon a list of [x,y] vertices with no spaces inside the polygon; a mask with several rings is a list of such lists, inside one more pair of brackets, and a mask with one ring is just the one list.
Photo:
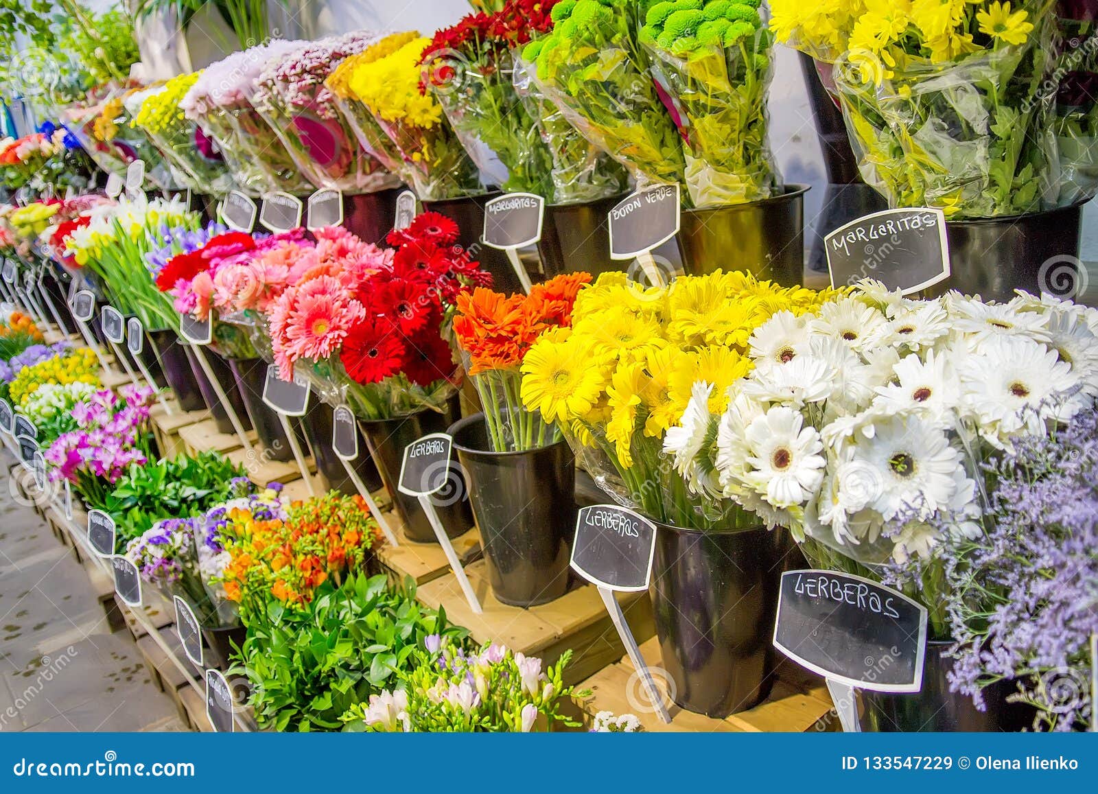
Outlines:
{"label": "black bucket behind the large Margaritas sign, holding yellow daisies", "polygon": [[1083,202],[1045,212],[946,221],[950,277],[927,293],[948,290],[1009,301],[1015,290],[1074,298],[1083,284],[1079,231]]}

